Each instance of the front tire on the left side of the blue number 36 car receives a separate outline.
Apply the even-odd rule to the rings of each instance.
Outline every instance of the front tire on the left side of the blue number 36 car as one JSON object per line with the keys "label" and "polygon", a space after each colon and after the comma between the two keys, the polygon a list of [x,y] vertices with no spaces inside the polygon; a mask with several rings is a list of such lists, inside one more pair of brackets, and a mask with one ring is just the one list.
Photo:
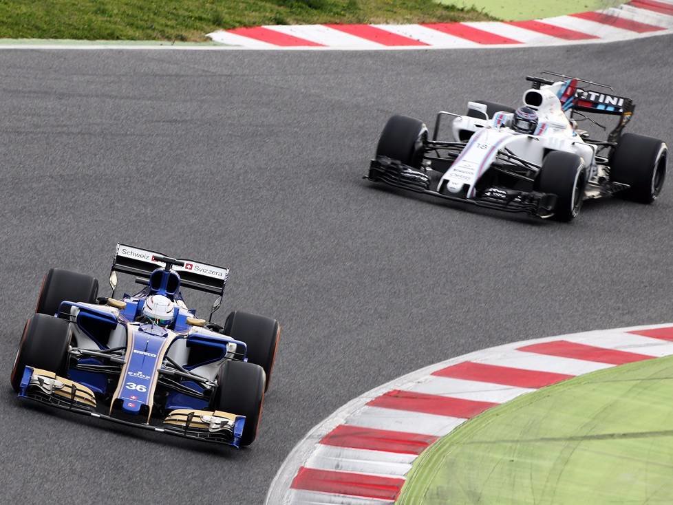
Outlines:
{"label": "front tire on the left side of the blue number 36 car", "polygon": [[23,327],[17,358],[12,368],[12,387],[19,392],[25,367],[35,367],[65,376],[68,346],[72,338],[70,323],[46,314],[34,314]]}

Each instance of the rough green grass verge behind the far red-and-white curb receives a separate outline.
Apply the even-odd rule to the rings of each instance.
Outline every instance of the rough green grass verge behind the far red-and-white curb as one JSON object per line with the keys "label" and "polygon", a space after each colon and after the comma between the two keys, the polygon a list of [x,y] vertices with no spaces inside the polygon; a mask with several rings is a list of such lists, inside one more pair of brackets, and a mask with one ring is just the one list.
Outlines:
{"label": "rough green grass verge behind the far red-and-white curb", "polygon": [[239,26],[482,19],[431,0],[0,0],[0,39],[205,41]]}

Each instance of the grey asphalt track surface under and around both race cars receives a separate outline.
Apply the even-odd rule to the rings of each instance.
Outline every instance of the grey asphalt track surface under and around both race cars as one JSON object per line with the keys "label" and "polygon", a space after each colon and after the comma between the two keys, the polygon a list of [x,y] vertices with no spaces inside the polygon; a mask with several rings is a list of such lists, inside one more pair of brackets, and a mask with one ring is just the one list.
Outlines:
{"label": "grey asphalt track surface under and around both race cars", "polygon": [[[673,184],[570,225],[361,180],[383,123],[517,103],[541,69],[633,96],[673,143],[673,36],[520,50],[0,52],[3,502],[260,504],[354,396],[482,347],[673,320]],[[259,438],[220,449],[21,404],[9,375],[50,266],[105,285],[116,241],[231,267],[284,326]],[[202,299],[198,299],[199,302]]]}

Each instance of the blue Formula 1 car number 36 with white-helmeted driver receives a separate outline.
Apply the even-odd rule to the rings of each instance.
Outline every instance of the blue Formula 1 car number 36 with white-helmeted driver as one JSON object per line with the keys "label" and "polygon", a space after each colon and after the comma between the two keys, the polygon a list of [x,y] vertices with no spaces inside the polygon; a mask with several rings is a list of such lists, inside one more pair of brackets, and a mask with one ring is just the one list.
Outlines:
{"label": "blue Formula 1 car number 36 with white-helmeted driver", "polygon": [[[117,272],[144,286],[115,298]],[[20,398],[206,442],[255,440],[280,327],[220,308],[228,269],[118,244],[110,297],[94,277],[52,268],[12,369]],[[182,290],[217,295],[208,319]]]}

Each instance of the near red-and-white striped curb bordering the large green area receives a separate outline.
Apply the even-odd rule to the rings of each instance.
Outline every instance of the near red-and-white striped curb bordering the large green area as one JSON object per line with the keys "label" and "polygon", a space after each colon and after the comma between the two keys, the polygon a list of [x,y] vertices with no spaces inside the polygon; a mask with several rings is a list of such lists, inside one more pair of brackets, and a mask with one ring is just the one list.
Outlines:
{"label": "near red-and-white striped curb bordering the large green area", "polygon": [[567,378],[671,355],[668,323],[509,343],[425,367],[314,427],[282,464],[266,504],[393,504],[412,462],[465,420]]}

